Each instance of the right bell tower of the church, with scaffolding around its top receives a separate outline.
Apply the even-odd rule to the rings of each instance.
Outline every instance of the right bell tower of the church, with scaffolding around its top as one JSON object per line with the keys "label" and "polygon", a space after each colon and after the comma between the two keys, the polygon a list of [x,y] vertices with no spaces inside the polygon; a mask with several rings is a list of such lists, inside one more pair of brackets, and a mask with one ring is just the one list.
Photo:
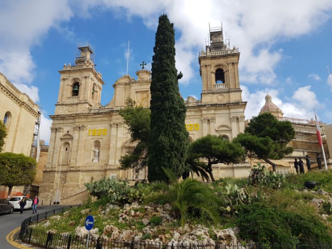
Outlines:
{"label": "right bell tower of the church, with scaffolding around its top", "polygon": [[202,104],[241,102],[238,78],[238,48],[224,39],[222,26],[209,28],[206,51],[199,55],[202,77]]}

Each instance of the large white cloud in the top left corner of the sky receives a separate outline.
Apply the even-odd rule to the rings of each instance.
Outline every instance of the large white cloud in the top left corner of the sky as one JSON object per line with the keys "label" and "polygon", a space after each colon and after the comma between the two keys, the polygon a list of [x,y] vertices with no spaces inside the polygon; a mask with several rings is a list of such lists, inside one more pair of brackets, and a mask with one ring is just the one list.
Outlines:
{"label": "large white cloud in the top left corner of the sky", "polygon": [[27,85],[36,67],[30,48],[38,45],[51,27],[69,20],[71,10],[67,0],[4,1],[0,6],[0,72],[38,101],[38,89]]}

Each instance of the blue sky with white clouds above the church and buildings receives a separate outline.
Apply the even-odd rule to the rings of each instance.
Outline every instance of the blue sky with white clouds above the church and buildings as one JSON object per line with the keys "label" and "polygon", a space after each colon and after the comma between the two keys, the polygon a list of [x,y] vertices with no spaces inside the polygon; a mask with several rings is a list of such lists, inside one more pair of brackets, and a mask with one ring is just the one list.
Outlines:
{"label": "blue sky with white clouds above the church and buildings", "polygon": [[247,119],[258,114],[269,93],[286,117],[318,117],[332,123],[332,0],[16,0],[0,1],[0,72],[42,108],[40,137],[48,144],[60,74],[73,64],[76,47],[95,48],[103,76],[101,104],[112,84],[136,77],[144,61],[151,69],[158,16],[174,23],[176,67],[184,98],[200,99],[198,53],[209,24],[220,26],[240,51],[242,98]]}

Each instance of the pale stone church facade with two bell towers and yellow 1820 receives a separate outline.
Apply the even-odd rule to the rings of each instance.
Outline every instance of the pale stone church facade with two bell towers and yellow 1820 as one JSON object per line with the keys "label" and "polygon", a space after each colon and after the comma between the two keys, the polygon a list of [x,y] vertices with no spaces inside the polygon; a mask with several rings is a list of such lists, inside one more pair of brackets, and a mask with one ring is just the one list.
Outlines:
{"label": "pale stone church facade with two bell towers and yellow 1820", "polygon": [[[201,99],[188,97],[186,128],[190,139],[207,134],[232,140],[244,130],[244,110],[238,77],[238,49],[223,41],[222,29],[210,30],[210,43],[199,55],[202,77]],[[60,88],[51,126],[47,164],[39,189],[44,203],[77,203],[83,196],[84,183],[93,177],[144,179],[147,170],[120,169],[119,159],[135,146],[119,110],[126,99],[148,108],[151,73],[136,72],[137,78],[125,75],[114,82],[111,101],[102,106],[100,97],[105,84],[95,70],[90,46],[79,47],[74,65],[59,71]],[[249,163],[216,165],[215,178],[247,176]]]}

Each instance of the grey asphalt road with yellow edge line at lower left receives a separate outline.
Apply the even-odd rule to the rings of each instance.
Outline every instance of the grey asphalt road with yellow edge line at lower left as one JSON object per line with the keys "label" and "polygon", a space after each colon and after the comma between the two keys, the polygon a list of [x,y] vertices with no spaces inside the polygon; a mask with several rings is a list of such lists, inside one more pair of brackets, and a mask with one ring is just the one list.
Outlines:
{"label": "grey asphalt road with yellow edge line at lower left", "polygon": [[[58,207],[58,206],[56,206]],[[48,210],[54,209],[55,206],[38,206],[38,213],[43,213]],[[0,215],[0,249],[16,249],[10,245],[7,240],[6,236],[16,227],[19,227],[22,221],[25,218],[32,216],[32,210],[24,210],[23,214],[21,215],[19,211],[15,211],[13,214],[1,214]]]}

